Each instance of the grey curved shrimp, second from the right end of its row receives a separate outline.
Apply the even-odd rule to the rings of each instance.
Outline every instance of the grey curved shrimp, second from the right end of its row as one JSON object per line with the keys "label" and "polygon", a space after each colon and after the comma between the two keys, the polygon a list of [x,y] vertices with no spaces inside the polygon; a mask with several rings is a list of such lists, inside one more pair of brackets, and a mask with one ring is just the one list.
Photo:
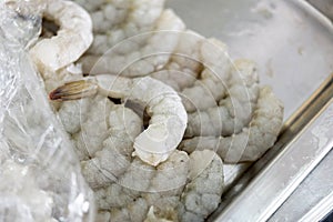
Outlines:
{"label": "grey curved shrimp, second from the right end of its row", "polygon": [[239,133],[251,121],[259,97],[258,82],[254,62],[244,59],[234,61],[226,81],[228,97],[220,100],[218,107],[189,114],[185,137]]}

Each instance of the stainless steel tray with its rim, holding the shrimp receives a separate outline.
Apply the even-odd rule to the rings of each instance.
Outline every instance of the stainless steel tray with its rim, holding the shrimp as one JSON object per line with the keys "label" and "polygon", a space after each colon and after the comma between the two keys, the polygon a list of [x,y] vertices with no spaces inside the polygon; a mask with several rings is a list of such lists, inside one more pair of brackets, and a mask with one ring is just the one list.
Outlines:
{"label": "stainless steel tray with its rim, holding the shrimp", "polygon": [[188,28],[224,41],[232,58],[256,61],[261,82],[285,104],[275,147],[256,163],[225,167],[223,202],[209,221],[306,221],[327,213],[333,208],[332,21],[303,0],[168,4]]}

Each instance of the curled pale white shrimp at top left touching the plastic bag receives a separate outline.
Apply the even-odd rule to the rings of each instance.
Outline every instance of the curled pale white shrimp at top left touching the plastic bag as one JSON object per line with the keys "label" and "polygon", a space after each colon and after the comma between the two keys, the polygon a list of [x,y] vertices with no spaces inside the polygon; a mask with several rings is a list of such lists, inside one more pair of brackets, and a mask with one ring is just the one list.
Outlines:
{"label": "curled pale white shrimp at top left touching the plastic bag", "polygon": [[57,71],[77,61],[92,42],[90,16],[78,4],[64,0],[47,0],[43,17],[59,24],[57,36],[40,40],[30,56],[43,73]]}

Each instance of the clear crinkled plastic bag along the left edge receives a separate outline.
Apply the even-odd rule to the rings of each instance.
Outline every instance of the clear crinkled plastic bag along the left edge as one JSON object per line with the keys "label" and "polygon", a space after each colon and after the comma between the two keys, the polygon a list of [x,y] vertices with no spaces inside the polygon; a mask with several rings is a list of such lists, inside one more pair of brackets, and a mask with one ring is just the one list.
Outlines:
{"label": "clear crinkled plastic bag along the left edge", "polygon": [[0,221],[91,221],[92,192],[27,53],[38,7],[0,2]]}

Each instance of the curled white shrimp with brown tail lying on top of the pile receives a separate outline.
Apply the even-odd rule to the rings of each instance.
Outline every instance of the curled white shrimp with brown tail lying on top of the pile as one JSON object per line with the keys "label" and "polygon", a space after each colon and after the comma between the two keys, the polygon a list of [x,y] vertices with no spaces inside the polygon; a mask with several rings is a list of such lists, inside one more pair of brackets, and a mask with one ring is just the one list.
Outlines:
{"label": "curled white shrimp with brown tail lying on top of the pile", "polygon": [[101,74],[70,82],[50,93],[52,100],[74,100],[101,93],[147,105],[150,124],[135,138],[133,155],[158,165],[165,161],[181,142],[188,114],[181,99],[172,88],[152,78],[117,78]]}

